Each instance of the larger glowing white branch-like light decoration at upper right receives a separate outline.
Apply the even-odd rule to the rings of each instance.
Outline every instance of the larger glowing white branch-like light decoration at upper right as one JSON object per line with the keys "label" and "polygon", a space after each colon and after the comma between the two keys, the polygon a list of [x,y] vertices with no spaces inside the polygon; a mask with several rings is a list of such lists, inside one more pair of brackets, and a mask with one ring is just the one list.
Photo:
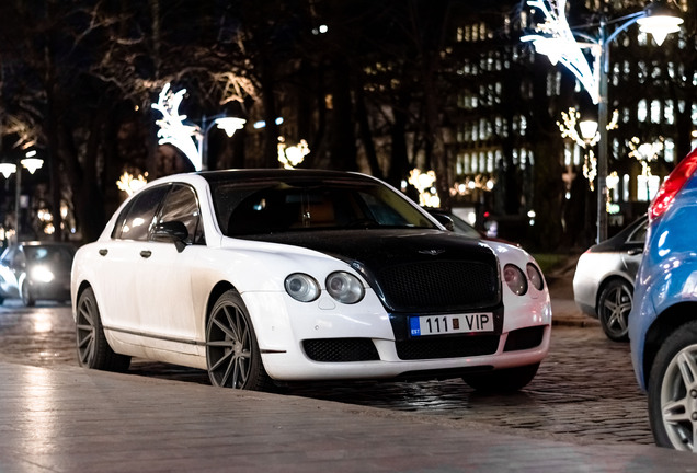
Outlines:
{"label": "larger glowing white branch-like light decoration at upper right", "polygon": [[[536,27],[540,34],[526,35],[521,41],[532,42],[538,53],[549,57],[551,64],[561,62],[567,67],[589,92],[593,103],[597,104],[601,97],[601,45],[576,41],[564,15],[567,0],[528,0],[527,4],[539,9],[545,22]],[[582,47],[593,53],[592,69]]]}

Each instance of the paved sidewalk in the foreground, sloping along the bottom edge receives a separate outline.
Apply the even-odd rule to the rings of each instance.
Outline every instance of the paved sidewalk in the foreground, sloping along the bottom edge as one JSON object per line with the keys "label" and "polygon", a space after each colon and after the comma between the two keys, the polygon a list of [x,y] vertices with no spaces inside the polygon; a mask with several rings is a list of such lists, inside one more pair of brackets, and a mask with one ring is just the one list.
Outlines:
{"label": "paved sidewalk in the foreground, sloping along the bottom edge", "polygon": [[695,457],[461,420],[0,361],[0,471],[694,472]]}

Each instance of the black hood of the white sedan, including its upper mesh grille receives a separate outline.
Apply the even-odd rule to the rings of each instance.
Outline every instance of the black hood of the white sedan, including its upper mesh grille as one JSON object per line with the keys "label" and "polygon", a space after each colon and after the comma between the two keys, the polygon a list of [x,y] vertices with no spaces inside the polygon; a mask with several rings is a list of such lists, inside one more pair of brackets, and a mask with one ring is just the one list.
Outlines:
{"label": "black hood of the white sedan, including its upper mesh grille", "polygon": [[346,262],[397,312],[449,312],[500,303],[493,251],[453,232],[424,229],[297,231],[244,236],[315,250]]}

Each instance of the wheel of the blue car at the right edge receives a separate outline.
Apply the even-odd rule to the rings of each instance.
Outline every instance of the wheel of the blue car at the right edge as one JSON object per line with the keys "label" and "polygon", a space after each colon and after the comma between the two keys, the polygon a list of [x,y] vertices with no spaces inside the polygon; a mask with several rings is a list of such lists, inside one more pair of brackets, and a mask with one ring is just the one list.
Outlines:
{"label": "wheel of the blue car at the right edge", "polygon": [[649,379],[649,420],[659,447],[697,452],[697,321],[665,338]]}

